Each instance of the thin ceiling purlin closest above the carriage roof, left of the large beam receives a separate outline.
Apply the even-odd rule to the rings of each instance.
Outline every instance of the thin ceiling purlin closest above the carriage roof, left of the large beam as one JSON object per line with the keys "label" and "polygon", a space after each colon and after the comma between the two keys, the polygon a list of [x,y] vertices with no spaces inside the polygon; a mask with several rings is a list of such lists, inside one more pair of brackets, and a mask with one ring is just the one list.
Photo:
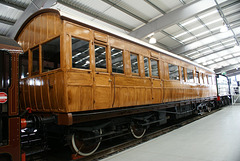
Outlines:
{"label": "thin ceiling purlin closest above the carriage roof, left of the large beam", "polygon": [[126,30],[128,32],[132,31],[131,29],[129,29],[128,27],[126,27],[124,25],[120,25],[118,23],[115,23],[115,22],[109,20],[108,18],[101,17],[98,13],[92,13],[90,11],[83,10],[83,9],[77,7],[77,6],[70,5],[70,4],[66,3],[65,1],[63,1],[63,0],[58,0],[58,3],[61,3],[61,4],[65,5],[65,6],[69,7],[69,8],[72,8],[72,9],[78,11],[78,12],[84,13],[84,14],[86,14],[88,16],[94,17],[94,18],[96,18],[98,20],[101,20],[103,22],[106,22],[108,24],[116,26],[116,27],[121,28],[123,30]]}

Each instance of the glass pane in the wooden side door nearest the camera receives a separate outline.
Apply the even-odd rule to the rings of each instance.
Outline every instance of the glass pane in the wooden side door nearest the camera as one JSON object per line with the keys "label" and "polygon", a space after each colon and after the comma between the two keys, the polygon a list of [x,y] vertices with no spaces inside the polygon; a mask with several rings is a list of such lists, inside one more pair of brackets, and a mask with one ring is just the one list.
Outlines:
{"label": "glass pane in the wooden side door nearest the camera", "polygon": [[95,64],[96,68],[107,68],[105,46],[95,45]]}

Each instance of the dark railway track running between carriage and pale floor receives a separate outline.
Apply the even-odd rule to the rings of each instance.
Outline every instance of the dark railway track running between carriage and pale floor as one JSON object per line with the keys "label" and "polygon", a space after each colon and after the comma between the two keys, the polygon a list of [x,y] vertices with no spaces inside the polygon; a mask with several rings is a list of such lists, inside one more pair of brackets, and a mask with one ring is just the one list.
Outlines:
{"label": "dark railway track running between carriage and pale floor", "polygon": [[[118,145],[114,145],[114,146],[110,146],[110,147],[107,147],[105,149],[102,149],[102,150],[99,150],[97,151],[95,154],[91,155],[91,156],[88,156],[88,157],[83,157],[83,158],[79,158],[79,159],[74,159],[72,161],[97,161],[97,160],[100,160],[100,159],[103,159],[103,158],[106,158],[110,155],[113,155],[113,154],[116,154],[118,152],[121,152],[123,150],[126,150],[128,148],[131,148],[131,147],[134,147],[138,144],[141,144],[141,143],[144,143],[146,141],[149,141],[153,138],[156,138],[160,135],[163,135],[163,134],[166,134],[168,132],[171,132],[175,129],[178,129],[184,125],[187,125],[189,123],[192,123],[196,120],[199,120],[203,117],[206,117],[208,115],[211,115],[219,110],[221,110],[222,108],[218,108],[218,109],[215,109],[211,112],[205,112],[203,115],[199,115],[199,116],[192,116],[192,117],[188,117],[188,118],[185,118],[185,119],[180,119],[180,122],[178,123],[170,123],[165,125],[163,128],[161,129],[150,129],[149,132],[143,136],[141,139],[131,139],[131,140],[127,140],[126,142],[124,143],[120,143]],[[162,126],[161,126],[162,127]],[[73,157],[77,157],[77,156],[74,156],[73,154]]]}

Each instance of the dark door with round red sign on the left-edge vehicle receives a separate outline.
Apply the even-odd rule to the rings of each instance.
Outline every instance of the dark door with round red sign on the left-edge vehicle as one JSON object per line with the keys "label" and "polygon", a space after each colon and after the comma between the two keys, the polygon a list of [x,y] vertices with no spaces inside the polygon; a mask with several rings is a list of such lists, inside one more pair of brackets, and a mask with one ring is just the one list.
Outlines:
{"label": "dark door with round red sign on the left-edge vehicle", "polygon": [[8,144],[8,103],[10,86],[10,59],[8,52],[0,51],[0,146]]}

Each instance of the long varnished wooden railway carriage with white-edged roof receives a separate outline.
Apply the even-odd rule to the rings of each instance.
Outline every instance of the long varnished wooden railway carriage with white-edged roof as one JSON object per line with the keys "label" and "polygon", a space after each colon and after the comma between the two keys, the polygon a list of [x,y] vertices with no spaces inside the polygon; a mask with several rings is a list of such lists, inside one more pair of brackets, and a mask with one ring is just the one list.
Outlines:
{"label": "long varnished wooden railway carriage with white-edged roof", "polygon": [[216,98],[213,71],[57,10],[33,14],[15,39],[25,52],[21,107],[54,114],[58,125],[162,109],[166,120],[168,112],[181,117]]}

